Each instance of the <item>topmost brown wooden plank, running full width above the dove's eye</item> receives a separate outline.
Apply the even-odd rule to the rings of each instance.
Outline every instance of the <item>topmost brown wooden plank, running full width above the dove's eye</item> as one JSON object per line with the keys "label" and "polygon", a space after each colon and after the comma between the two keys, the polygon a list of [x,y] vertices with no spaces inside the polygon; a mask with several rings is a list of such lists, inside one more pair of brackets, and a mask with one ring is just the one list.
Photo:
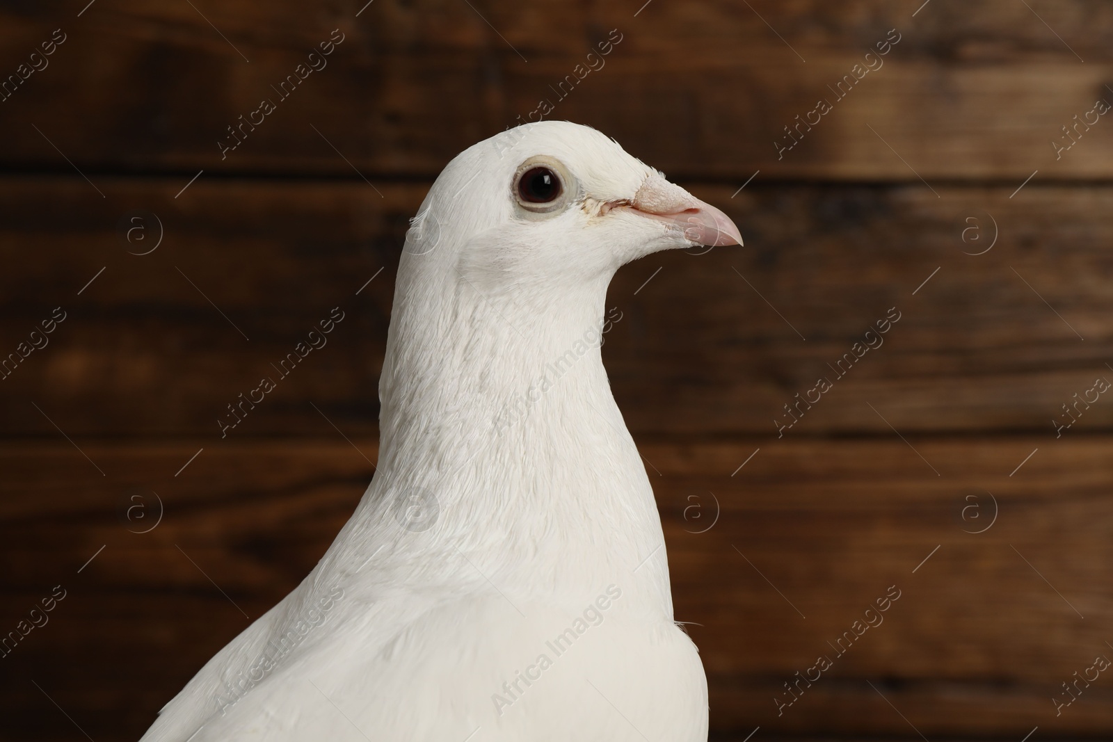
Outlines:
{"label": "topmost brown wooden plank, running full width above the dove's eye", "polygon": [[[79,4],[72,13],[43,6],[0,14],[0,39],[12,50],[4,75],[53,29],[67,34],[49,67],[2,103],[0,157],[9,166],[66,170],[60,149],[92,174],[352,175],[338,150],[373,179],[432,177],[548,100],[550,117],[599,127],[681,177],[740,184],[760,169],[765,179],[918,172],[1018,184],[1035,169],[1041,180],[1113,172],[1103,117],[1062,157],[1051,146],[1099,97],[1113,102],[1102,68],[1113,52],[1101,31],[1111,20],[1099,0],[935,2],[915,17],[919,3],[880,0],[652,3],[637,16],[624,4],[381,0],[358,18],[357,0],[327,11],[289,1],[194,9],[101,0],[77,18]],[[337,28],[344,41],[316,62],[319,71],[285,98],[276,92]],[[875,71],[857,72],[864,77],[845,86],[845,99],[836,96],[890,29],[897,46],[869,62]],[[618,46],[589,60],[612,36]],[[597,71],[583,71],[589,61]],[[560,91],[568,76],[577,83]],[[221,155],[227,127],[264,98],[276,110]],[[778,157],[785,127],[819,99],[833,110],[815,115],[821,123]]]}

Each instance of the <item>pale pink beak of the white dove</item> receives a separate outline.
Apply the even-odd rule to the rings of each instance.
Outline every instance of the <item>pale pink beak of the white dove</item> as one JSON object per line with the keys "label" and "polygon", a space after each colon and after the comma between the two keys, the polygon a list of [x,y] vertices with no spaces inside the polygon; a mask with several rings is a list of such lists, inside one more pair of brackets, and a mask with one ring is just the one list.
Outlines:
{"label": "pale pink beak of the white dove", "polygon": [[738,227],[726,214],[659,175],[649,176],[629,207],[633,212],[663,221],[671,231],[697,245],[741,245]]}

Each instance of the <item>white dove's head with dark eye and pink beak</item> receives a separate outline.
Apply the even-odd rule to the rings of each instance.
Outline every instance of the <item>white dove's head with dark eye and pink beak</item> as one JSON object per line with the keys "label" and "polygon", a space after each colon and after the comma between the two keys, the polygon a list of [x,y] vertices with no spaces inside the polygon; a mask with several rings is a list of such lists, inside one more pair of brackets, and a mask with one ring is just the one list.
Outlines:
{"label": "white dove's head with dark eye and pink beak", "polygon": [[[599,131],[539,121],[463,151],[437,178],[405,251],[477,288],[607,281],[670,248],[741,245],[738,228]],[[410,266],[405,264],[410,263]],[[436,266],[436,267],[434,267]]]}

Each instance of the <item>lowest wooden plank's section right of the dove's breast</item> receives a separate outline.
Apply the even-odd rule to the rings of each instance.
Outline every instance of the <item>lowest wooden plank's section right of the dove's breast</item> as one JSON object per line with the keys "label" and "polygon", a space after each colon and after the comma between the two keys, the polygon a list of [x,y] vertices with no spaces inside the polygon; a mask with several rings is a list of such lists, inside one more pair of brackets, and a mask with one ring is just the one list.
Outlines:
{"label": "lowest wooden plank's section right of the dove's breast", "polygon": [[[918,443],[940,477],[899,442],[781,442],[733,477],[752,443],[643,445],[662,473],[677,620],[700,624],[689,632],[723,728],[908,732],[869,681],[928,739],[1109,729],[1107,687],[1086,689],[1060,718],[1051,701],[1109,650],[1090,621],[1107,609],[1097,572],[1113,560],[1103,527],[1087,524],[1105,509],[1107,444],[1040,444]],[[719,520],[699,533],[716,503]],[[845,656],[833,649],[890,585],[902,597],[884,622],[839,644]],[[778,715],[775,699],[792,700],[784,683],[820,655],[829,674]]]}

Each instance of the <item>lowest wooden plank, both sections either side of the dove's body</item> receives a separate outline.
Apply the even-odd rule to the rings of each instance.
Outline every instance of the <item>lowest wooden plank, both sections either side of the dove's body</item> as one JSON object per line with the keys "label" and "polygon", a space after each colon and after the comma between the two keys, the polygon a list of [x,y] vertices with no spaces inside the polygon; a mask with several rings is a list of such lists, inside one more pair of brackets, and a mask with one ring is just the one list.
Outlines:
{"label": "lowest wooden plank, both sections either side of the dove's body", "polygon": [[[68,591],[50,623],[4,660],[9,734],[53,724],[36,739],[72,738],[33,679],[93,739],[137,736],[246,625],[239,610],[258,616],[312,568],[372,476],[339,436],[226,442],[175,476],[203,443],[83,446],[105,477],[65,442],[0,453],[17,493],[0,501],[9,575],[0,621],[16,625],[53,585]],[[742,739],[761,725],[786,738],[909,739],[877,691],[928,739],[1113,729],[1100,681],[1057,718],[1051,701],[1074,671],[1111,652],[1113,438],[1057,448],[1020,436],[918,443],[940,477],[899,441],[781,441],[762,443],[731,476],[757,443],[640,446],[676,617],[692,622],[708,670],[715,734]],[[376,458],[373,439],[354,444]],[[129,533],[139,520],[121,521],[121,503],[142,493],[154,508],[150,492],[162,521]],[[998,517],[985,528],[987,492]],[[972,505],[979,509],[964,513]],[[836,655],[827,642],[868,617],[892,585],[900,596],[884,622]],[[782,684],[819,654],[834,666],[778,716]]]}

